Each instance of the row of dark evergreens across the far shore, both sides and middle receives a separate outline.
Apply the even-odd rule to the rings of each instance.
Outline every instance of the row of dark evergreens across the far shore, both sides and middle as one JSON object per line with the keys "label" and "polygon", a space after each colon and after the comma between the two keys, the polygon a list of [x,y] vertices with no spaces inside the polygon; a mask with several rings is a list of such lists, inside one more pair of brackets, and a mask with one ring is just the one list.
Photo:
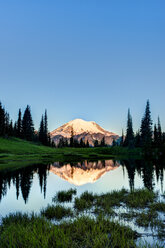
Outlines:
{"label": "row of dark evergreens across the far shore, both sides and middle", "polygon": [[[27,105],[23,115],[21,109],[18,111],[18,119],[15,123],[10,119],[9,113],[5,110],[0,102],[0,136],[14,136],[28,141],[40,142],[46,146],[55,147],[54,141],[51,140],[48,132],[48,117],[47,111],[41,116],[39,130],[34,130],[34,122],[31,115],[30,106]],[[122,146],[128,148],[141,147],[144,151],[149,151],[151,148],[161,149],[165,145],[165,133],[162,132],[160,118],[153,128],[151,118],[150,103],[147,100],[144,115],[141,120],[140,129],[135,133],[133,130],[133,121],[128,109],[127,129],[126,133],[122,132],[120,141],[113,140],[112,146]],[[61,138],[57,147],[89,147],[89,141],[84,139],[78,141],[74,136],[74,130],[71,129],[70,139]],[[94,147],[107,146],[105,138],[99,142],[94,141]]]}

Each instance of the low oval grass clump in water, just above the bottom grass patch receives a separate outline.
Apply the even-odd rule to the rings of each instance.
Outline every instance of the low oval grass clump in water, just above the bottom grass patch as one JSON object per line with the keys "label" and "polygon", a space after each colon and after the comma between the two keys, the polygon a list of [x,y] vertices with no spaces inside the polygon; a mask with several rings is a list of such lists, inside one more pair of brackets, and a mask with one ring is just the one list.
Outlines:
{"label": "low oval grass clump in water, just above the bottom grass patch", "polygon": [[41,215],[47,219],[61,220],[64,217],[72,217],[73,212],[71,208],[65,208],[60,205],[48,205],[45,209],[41,210]]}

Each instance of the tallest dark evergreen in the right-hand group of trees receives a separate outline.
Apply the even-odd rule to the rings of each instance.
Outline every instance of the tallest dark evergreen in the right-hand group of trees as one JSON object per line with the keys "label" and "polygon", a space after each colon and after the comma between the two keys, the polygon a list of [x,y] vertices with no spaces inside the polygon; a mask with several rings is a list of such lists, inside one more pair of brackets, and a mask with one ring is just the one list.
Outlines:
{"label": "tallest dark evergreen in the right-hand group of trees", "polygon": [[140,133],[141,133],[141,146],[144,149],[148,150],[149,148],[151,148],[152,145],[152,120],[151,120],[149,100],[147,100],[145,113],[141,121]]}

